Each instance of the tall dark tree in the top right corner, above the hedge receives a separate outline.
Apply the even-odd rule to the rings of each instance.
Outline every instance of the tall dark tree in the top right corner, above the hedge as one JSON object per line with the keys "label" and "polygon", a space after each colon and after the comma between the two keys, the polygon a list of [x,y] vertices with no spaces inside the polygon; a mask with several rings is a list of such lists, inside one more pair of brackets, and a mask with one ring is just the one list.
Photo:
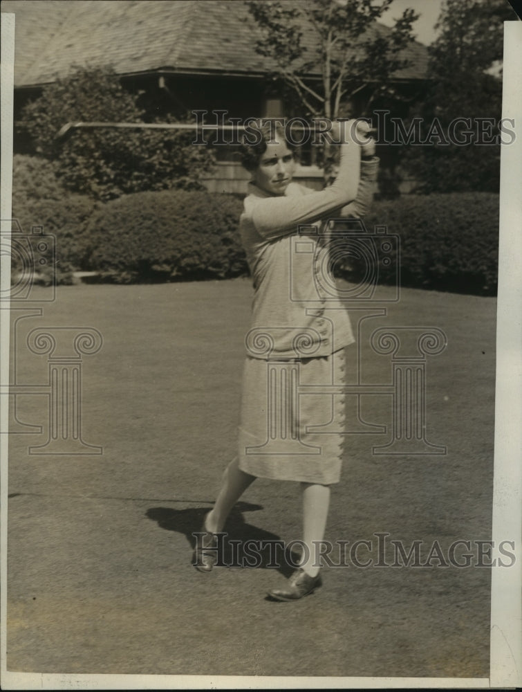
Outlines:
{"label": "tall dark tree in the top right corner, above the hedge", "polygon": [[[422,181],[420,192],[498,192],[498,64],[503,21],[515,16],[505,0],[446,0],[442,6],[440,33],[429,49],[427,98],[411,113],[422,121],[423,134],[434,118],[442,133],[440,141],[408,152],[406,163]],[[473,136],[466,138],[465,131]]]}

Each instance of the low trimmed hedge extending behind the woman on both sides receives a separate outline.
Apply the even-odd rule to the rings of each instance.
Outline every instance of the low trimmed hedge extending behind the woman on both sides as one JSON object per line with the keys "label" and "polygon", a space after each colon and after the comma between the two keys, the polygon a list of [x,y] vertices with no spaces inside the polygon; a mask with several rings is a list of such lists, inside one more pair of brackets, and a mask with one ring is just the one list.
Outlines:
{"label": "low trimmed hedge extending behind the woman on both sides", "polygon": [[[86,230],[88,266],[118,283],[227,278],[248,273],[239,241],[242,203],[225,194],[142,192],[104,204]],[[379,282],[494,295],[498,195],[432,194],[375,202],[366,228],[400,236],[400,260],[380,266]],[[366,266],[350,257],[340,276],[359,282]]]}

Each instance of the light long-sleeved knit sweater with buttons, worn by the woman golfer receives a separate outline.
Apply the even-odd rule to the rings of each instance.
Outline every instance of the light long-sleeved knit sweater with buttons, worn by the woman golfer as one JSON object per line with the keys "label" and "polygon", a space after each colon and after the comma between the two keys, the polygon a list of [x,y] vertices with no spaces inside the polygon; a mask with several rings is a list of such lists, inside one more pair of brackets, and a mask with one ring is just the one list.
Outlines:
{"label": "light long-sleeved knit sweater with buttons, worn by the woman golfer", "polygon": [[254,283],[245,338],[249,356],[328,356],[354,341],[346,305],[329,273],[328,255],[342,251],[342,242],[331,239],[328,221],[364,216],[379,159],[359,162],[356,154],[354,161],[353,145],[341,148],[337,179],[324,190],[290,183],[284,195],[274,197],[250,183],[239,224]]}

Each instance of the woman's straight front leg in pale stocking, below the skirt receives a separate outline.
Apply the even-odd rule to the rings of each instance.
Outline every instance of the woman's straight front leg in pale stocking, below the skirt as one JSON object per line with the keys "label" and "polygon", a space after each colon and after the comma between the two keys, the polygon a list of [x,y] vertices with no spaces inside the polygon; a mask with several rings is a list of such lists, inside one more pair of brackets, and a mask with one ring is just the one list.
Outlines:
{"label": "woman's straight front leg in pale stocking, below the skirt", "polygon": [[303,493],[303,542],[304,553],[300,566],[308,576],[319,574],[315,564],[316,543],[323,540],[330,506],[330,486],[317,483],[301,483]]}

